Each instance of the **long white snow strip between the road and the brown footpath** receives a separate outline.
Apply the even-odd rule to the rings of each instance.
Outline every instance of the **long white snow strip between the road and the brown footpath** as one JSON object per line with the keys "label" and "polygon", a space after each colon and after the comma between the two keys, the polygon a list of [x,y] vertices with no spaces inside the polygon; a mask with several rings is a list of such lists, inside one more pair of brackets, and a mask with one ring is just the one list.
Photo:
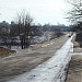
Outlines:
{"label": "long white snow strip between the road and the brown footpath", "polygon": [[66,79],[65,69],[71,58],[69,52],[73,48],[72,37],[55,52],[52,58],[39,65],[31,72],[20,74],[7,82],[63,82]]}

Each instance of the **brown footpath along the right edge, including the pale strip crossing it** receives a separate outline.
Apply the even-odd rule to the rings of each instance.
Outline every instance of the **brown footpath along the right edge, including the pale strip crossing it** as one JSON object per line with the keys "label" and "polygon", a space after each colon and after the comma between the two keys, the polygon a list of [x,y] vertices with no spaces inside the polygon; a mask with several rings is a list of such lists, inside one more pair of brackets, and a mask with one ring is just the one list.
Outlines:
{"label": "brown footpath along the right edge, including the pale strip crossing it", "polygon": [[82,48],[78,42],[73,43],[73,54],[66,82],[82,82]]}

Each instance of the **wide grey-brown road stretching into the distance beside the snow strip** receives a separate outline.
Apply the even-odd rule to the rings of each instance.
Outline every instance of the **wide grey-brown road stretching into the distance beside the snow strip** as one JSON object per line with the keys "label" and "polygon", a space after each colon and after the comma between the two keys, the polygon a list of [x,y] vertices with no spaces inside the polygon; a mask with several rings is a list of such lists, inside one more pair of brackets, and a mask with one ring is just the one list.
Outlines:
{"label": "wide grey-brown road stretching into the distance beside the snow strip", "polygon": [[68,35],[65,35],[44,44],[36,44],[28,49],[19,49],[16,54],[0,58],[0,82],[31,71],[39,63],[48,60],[68,38]]}

